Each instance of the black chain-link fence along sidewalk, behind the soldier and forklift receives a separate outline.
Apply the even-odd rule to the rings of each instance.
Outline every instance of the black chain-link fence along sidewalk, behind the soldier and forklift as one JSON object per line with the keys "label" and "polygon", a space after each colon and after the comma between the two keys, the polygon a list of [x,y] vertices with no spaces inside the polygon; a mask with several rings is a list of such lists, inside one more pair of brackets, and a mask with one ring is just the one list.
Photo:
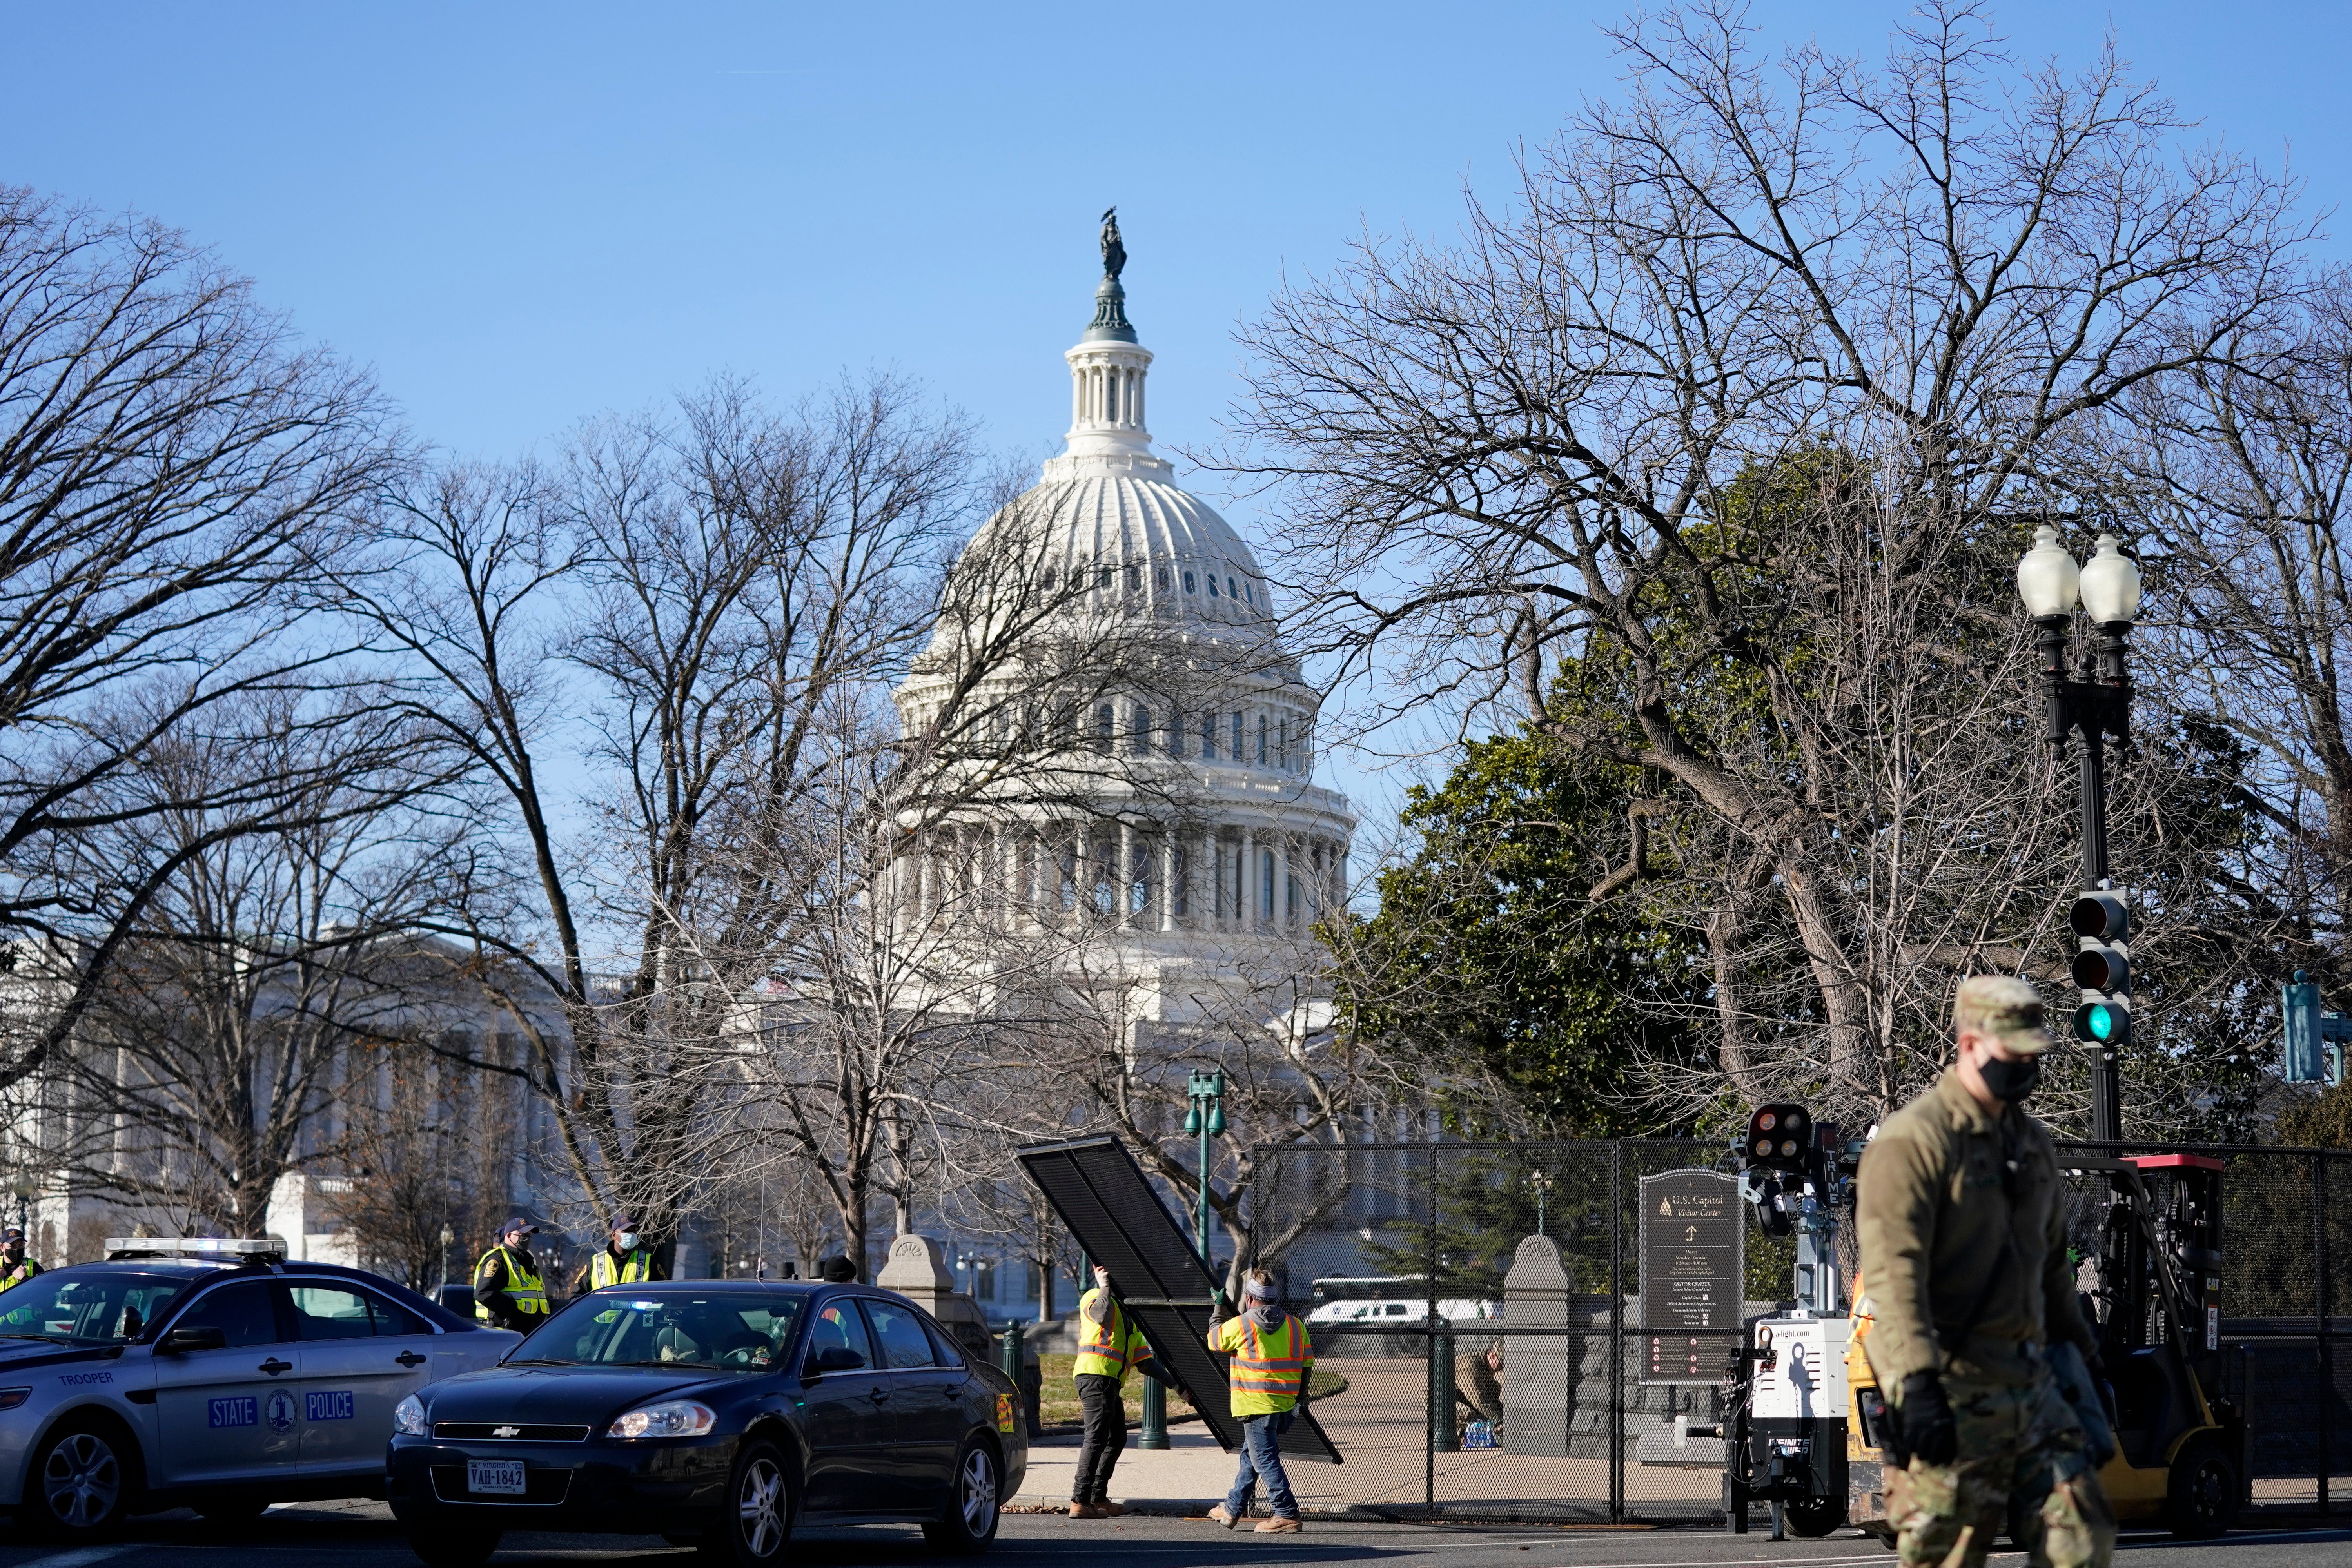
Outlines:
{"label": "black chain-link fence along sidewalk, behind the soldier and forklift", "polygon": [[[2065,1145],[2103,1152],[2093,1145]],[[2138,1150],[2117,1150],[2131,1154]],[[2328,1505],[2352,1450],[2352,1152],[2199,1150],[2225,1161],[2206,1394],[2246,1422],[2253,1502]],[[1392,1516],[1719,1521],[1740,1321],[1693,1328],[1642,1300],[1642,1178],[1736,1173],[1719,1143],[1392,1143],[1258,1150],[1256,1253],[1345,1389],[1315,1418],[1345,1465],[1296,1465],[1301,1502]],[[2152,1175],[2159,1229],[2173,1201]],[[2074,1182],[2096,1255],[2105,1178]],[[1743,1215],[1740,1316],[1788,1305],[1795,1248]],[[1564,1288],[1515,1314],[1519,1246],[1557,1248]],[[1682,1420],[1677,1420],[1682,1418]]]}

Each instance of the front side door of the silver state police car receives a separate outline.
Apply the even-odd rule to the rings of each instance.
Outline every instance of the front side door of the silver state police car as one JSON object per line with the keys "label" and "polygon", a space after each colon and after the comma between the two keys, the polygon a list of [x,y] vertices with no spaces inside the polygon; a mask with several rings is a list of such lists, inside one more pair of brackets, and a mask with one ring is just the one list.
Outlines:
{"label": "front side door of the silver state police car", "polygon": [[219,1328],[228,1342],[155,1356],[158,1483],[292,1479],[301,1352],[280,1328],[278,1286],[268,1279],[209,1286],[172,1328]]}

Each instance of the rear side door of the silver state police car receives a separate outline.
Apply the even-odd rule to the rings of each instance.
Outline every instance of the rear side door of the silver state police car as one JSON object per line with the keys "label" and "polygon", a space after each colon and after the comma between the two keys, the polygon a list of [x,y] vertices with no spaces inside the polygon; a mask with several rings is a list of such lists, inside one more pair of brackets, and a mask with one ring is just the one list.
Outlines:
{"label": "rear side door of the silver state police car", "polygon": [[301,1472],[383,1472],[393,1406],[433,1371],[421,1316],[355,1284],[287,1279],[301,1340]]}

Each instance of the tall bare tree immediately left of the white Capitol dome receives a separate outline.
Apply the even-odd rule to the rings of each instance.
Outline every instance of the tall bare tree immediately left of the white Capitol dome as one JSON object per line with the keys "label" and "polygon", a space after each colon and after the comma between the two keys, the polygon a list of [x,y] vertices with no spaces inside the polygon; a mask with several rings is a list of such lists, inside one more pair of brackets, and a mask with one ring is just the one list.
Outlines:
{"label": "tall bare tree immediately left of the white Capitol dome", "polygon": [[[419,715],[468,748],[520,827],[452,926],[534,1041],[532,1084],[597,1225],[668,1232],[739,1077],[743,976],[814,875],[786,825],[830,766],[828,712],[913,651],[962,515],[969,442],[903,383],[790,416],[736,383],[590,425],[564,468],[442,470],[341,588],[421,661]],[[548,778],[588,729],[588,825]],[[701,957],[699,957],[701,954]],[[560,999],[546,1020],[499,973]],[[604,978],[600,978],[600,971]],[[557,1023],[560,1027],[548,1027]]]}

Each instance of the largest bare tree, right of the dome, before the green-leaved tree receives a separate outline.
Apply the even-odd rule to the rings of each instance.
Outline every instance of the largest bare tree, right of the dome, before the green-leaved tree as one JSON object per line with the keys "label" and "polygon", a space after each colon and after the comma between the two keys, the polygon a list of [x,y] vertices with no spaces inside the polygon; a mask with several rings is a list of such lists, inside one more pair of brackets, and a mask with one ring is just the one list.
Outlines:
{"label": "largest bare tree, right of the dome, before the green-leaved tree", "polygon": [[[1296,498],[1319,646],[1414,672],[1385,712],[1642,771],[1726,1018],[1797,1025],[1722,1070],[1867,1117],[2072,879],[2009,564],[2100,522],[2117,402],[2223,360],[2300,230],[2112,56],[2016,71],[1966,5],[1877,73],[1769,66],[1722,5],[1616,42],[1625,101],[1512,212],[1272,306],[1235,465]],[[1743,997],[1783,940],[1795,985]]]}

